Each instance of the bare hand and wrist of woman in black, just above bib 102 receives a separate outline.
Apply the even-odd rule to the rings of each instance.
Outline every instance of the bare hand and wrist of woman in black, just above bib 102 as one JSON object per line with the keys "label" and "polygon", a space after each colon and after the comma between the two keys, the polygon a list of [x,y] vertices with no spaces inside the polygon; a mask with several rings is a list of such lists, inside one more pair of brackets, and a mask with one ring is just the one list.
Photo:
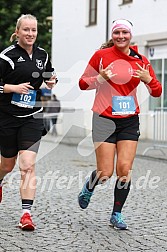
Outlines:
{"label": "bare hand and wrist of woman in black, just above bib 102", "polygon": [[30,82],[21,83],[18,85],[13,84],[4,85],[4,93],[28,94],[29,89],[34,89],[34,87],[30,85]]}

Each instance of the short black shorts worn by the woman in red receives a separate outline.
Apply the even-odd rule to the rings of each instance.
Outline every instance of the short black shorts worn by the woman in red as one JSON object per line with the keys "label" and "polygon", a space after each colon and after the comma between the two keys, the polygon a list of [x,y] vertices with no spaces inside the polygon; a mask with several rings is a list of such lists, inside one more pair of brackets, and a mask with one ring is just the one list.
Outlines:
{"label": "short black shorts worn by the woman in red", "polygon": [[138,115],[126,118],[108,118],[94,113],[92,121],[93,142],[138,141],[139,125]]}

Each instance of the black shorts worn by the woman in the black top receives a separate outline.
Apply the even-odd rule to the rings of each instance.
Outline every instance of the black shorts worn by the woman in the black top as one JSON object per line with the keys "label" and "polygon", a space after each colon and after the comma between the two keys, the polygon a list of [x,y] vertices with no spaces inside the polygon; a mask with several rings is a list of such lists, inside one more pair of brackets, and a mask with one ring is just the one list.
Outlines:
{"label": "black shorts worn by the woman in the black top", "polygon": [[1,155],[11,158],[20,150],[38,152],[43,129],[42,118],[20,118],[0,112]]}

